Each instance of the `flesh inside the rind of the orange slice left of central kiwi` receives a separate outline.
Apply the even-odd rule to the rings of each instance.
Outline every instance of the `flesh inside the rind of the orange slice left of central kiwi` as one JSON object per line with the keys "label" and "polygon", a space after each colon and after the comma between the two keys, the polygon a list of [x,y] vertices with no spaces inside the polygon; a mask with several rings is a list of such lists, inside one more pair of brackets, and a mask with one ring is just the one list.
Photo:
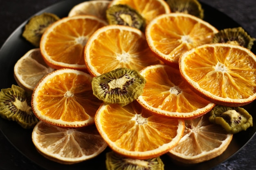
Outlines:
{"label": "flesh inside the rind of the orange slice left of central kiwi", "polygon": [[99,107],[92,94],[90,79],[74,73],[48,79],[38,92],[36,101],[41,115],[70,122],[94,117]]}

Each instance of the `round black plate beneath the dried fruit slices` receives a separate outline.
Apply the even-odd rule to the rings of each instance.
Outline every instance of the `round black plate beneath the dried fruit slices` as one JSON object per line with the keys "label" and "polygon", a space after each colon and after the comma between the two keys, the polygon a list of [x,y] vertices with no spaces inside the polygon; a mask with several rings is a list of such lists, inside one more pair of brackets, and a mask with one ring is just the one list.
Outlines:
{"label": "round black plate beneath the dried fruit slices", "polygon": [[[84,2],[84,1],[85,0],[66,0],[58,4],[52,5],[36,13],[35,15],[38,15],[43,12],[50,12],[50,13],[55,13],[60,18],[62,18],[67,16],[68,12],[75,4],[79,4],[80,2]],[[234,20],[229,18],[224,13],[221,13],[220,11],[204,3],[202,3],[202,7],[204,9],[204,15],[205,15],[204,20],[209,22],[213,26],[215,26],[217,29],[220,30],[220,29],[240,26],[238,23],[236,23]],[[213,13],[214,13],[214,17],[212,17],[211,15]],[[221,20],[216,20],[214,18],[221,18]],[[14,64],[20,57],[22,57],[22,55],[24,55],[30,49],[34,48],[34,46],[32,46],[29,42],[27,42],[21,36],[23,28],[28,20],[22,23],[16,29],[16,31],[14,31],[11,34],[11,36],[7,39],[7,41],[4,43],[4,45],[0,49],[0,77],[1,77],[0,89],[9,88],[11,87],[11,84],[16,84],[15,79],[13,78]],[[13,46],[15,46],[15,50],[13,50]],[[254,54],[256,53],[255,46],[253,46],[252,52]],[[255,101],[245,106],[245,108],[249,111],[249,113],[252,113],[254,110],[256,110]],[[252,115],[252,116],[253,116],[253,119],[256,120],[255,115]],[[255,125],[256,125],[256,122],[254,121],[253,127],[247,129],[246,131],[235,134],[227,150],[219,157],[216,157],[215,159],[211,159],[210,161],[205,161],[203,163],[199,163],[193,166],[181,166],[181,165],[177,165],[175,162],[172,162],[168,156],[163,155],[161,158],[164,161],[165,169],[168,169],[168,170],[170,169],[171,170],[210,169],[218,165],[219,163],[227,160],[231,156],[233,156],[245,144],[247,144],[247,142],[255,135],[255,132],[256,132]],[[101,155],[99,155],[94,159],[84,161],[82,163],[77,163],[74,165],[63,165],[63,164],[56,163],[46,159],[36,151],[34,144],[31,141],[32,130],[24,130],[18,124],[16,124],[16,122],[8,121],[2,118],[0,118],[0,130],[5,135],[5,137],[11,142],[11,144],[13,144],[15,148],[17,148],[17,150],[19,150],[23,155],[25,155],[31,161],[34,161],[36,164],[38,164],[39,166],[47,170],[55,170],[55,169],[104,170],[106,169],[105,154],[110,150],[109,148],[107,148],[106,151],[104,151]]]}

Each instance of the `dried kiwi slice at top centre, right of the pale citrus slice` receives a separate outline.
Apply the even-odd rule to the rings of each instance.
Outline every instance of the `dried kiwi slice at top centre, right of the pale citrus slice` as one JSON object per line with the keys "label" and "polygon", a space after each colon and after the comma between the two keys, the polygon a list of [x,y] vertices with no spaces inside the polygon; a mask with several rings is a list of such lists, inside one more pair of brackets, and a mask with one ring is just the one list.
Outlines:
{"label": "dried kiwi slice at top centre, right of the pale citrus slice", "polygon": [[108,24],[132,26],[144,31],[146,20],[140,13],[126,4],[116,4],[106,10]]}

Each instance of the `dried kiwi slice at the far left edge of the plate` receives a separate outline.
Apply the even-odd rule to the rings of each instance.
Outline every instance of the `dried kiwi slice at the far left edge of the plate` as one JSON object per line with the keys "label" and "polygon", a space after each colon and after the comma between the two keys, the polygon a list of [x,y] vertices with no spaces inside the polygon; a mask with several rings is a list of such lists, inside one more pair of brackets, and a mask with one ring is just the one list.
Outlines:
{"label": "dried kiwi slice at the far left edge of the plate", "polygon": [[14,84],[0,91],[0,116],[17,121],[25,129],[33,128],[38,122],[30,105],[30,97],[23,88]]}

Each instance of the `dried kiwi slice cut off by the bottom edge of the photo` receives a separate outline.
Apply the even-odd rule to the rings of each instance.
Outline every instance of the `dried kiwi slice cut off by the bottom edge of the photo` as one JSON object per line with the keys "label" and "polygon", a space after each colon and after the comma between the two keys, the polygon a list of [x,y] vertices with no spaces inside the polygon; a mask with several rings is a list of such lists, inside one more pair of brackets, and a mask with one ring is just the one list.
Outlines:
{"label": "dried kiwi slice cut off by the bottom edge of the photo", "polygon": [[111,151],[106,153],[107,170],[164,170],[160,157],[139,160],[125,158]]}

